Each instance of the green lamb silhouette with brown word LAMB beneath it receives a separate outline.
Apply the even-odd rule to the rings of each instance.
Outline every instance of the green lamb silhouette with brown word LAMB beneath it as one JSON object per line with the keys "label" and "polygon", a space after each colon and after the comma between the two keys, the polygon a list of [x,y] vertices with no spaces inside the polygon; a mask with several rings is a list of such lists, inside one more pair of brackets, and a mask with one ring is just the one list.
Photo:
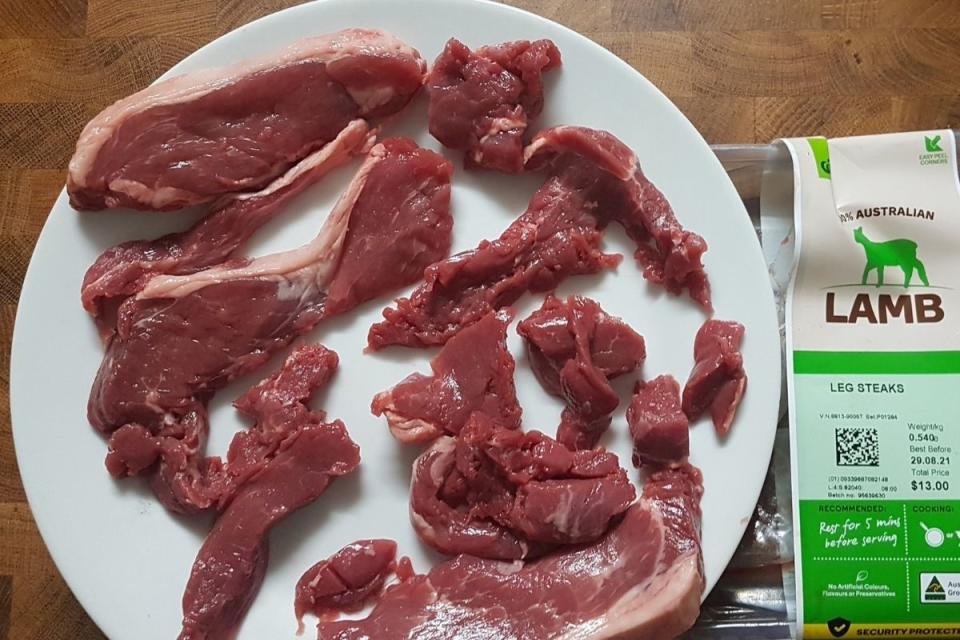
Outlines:
{"label": "green lamb silhouette with brown word LAMB beneath it", "polygon": [[[826,321],[839,324],[905,324],[940,322],[944,318],[943,300],[932,292],[913,293],[911,288],[929,288],[926,265],[919,257],[918,244],[908,238],[877,240],[857,227],[853,240],[863,249],[864,266],[860,281],[826,287]],[[900,277],[887,278],[887,268],[899,270]],[[916,276],[916,279],[915,277]],[[919,284],[917,283],[919,280]],[[903,293],[879,291],[857,293],[849,305],[838,302],[836,291],[855,287],[874,290],[881,287],[903,289]]]}

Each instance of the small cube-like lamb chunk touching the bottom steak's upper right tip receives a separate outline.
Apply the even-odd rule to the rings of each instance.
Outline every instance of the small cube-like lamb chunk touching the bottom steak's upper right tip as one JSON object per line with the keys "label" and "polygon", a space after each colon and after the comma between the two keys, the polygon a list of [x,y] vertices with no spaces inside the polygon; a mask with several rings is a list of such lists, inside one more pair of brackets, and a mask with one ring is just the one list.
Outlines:
{"label": "small cube-like lamb chunk touching the bottom steak's upper right tip", "polygon": [[678,465],[690,455],[690,423],[680,409],[680,384],[673,376],[637,383],[627,424],[637,466]]}

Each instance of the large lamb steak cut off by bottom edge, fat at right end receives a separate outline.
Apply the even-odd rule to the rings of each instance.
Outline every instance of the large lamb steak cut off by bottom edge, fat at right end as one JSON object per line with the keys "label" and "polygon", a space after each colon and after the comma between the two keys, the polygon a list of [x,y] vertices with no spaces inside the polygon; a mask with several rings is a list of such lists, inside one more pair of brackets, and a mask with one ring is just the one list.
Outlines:
{"label": "large lamb steak cut off by bottom edge, fat at right end", "polygon": [[321,621],[322,640],[667,640],[700,610],[700,473],[656,472],[591,545],[527,563],[462,555],[392,585],[369,616]]}

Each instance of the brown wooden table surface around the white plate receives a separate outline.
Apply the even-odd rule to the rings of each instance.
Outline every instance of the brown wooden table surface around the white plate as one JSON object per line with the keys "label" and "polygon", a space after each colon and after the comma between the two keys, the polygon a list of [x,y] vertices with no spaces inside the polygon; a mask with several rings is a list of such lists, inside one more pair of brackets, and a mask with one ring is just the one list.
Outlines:
{"label": "brown wooden table surface around the white plate", "polygon": [[[510,3],[627,60],[711,143],[960,126],[960,0]],[[199,46],[291,4],[0,0],[0,640],[103,637],[37,533],[7,402],[21,282],[77,135]]]}

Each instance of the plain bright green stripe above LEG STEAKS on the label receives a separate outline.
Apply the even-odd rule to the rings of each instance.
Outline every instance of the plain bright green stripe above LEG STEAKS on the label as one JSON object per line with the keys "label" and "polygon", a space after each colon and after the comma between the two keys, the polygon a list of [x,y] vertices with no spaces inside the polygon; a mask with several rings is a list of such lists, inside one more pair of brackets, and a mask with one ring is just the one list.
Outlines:
{"label": "plain bright green stripe above LEG STEAKS on the label", "polygon": [[960,373],[960,351],[794,351],[794,373]]}

